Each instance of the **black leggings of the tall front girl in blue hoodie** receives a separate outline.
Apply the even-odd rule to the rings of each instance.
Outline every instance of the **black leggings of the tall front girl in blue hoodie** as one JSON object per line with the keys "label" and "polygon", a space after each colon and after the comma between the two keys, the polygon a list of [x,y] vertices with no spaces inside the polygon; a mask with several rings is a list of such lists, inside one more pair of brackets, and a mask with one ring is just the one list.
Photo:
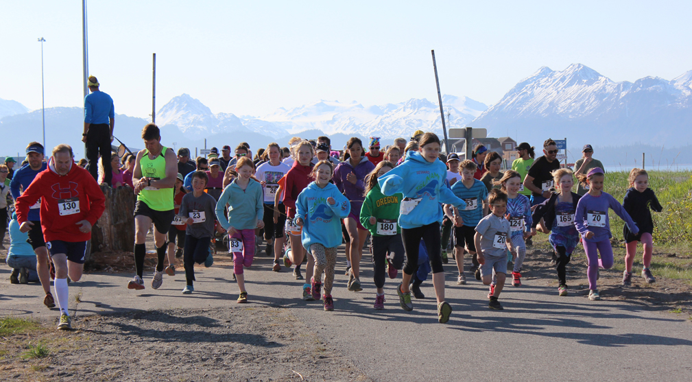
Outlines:
{"label": "black leggings of the tall front girl in blue hoodie", "polygon": [[421,239],[428,249],[432,273],[444,272],[440,253],[439,223],[437,221],[422,227],[401,228],[401,239],[403,239],[403,248],[406,250],[406,264],[403,266],[403,273],[412,275],[418,270],[418,251]]}

